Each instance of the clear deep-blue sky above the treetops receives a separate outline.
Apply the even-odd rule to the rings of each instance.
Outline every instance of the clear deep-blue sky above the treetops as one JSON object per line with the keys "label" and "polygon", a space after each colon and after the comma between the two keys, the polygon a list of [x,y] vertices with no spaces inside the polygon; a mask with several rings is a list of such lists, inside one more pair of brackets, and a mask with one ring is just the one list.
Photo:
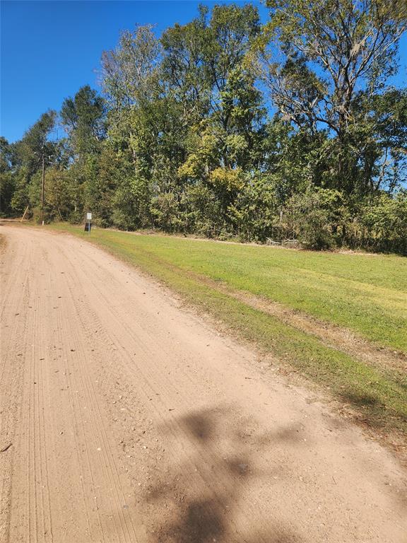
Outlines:
{"label": "clear deep-blue sky above the treetops", "polygon": [[[190,21],[199,4],[216,3],[225,2],[2,0],[0,134],[16,141],[42,112],[59,110],[87,83],[96,87],[102,50],[115,47],[120,30],[152,23],[161,33]],[[405,36],[398,85],[406,85],[406,66]]]}

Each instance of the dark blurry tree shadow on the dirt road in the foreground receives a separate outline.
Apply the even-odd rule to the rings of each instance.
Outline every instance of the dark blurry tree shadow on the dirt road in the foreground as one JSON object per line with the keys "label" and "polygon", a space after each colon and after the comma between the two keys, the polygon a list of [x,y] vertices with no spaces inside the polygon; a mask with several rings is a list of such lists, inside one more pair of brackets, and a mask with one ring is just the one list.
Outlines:
{"label": "dark blurry tree shadow on the dirt road in the foreground", "polygon": [[155,519],[152,542],[301,542],[292,527],[271,520],[273,504],[261,516],[253,489],[261,476],[256,455],[273,440],[297,441],[295,426],[259,435],[254,419],[219,407],[194,411],[163,429],[183,452],[144,496]]}

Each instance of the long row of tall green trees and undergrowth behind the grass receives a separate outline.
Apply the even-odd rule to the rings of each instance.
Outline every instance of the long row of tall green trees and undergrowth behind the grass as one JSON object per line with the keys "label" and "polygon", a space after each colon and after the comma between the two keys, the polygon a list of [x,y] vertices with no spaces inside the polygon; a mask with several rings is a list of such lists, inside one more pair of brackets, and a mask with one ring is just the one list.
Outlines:
{"label": "long row of tall green trees and undergrowth behind the grass", "polygon": [[406,255],[405,1],[266,6],[123,32],[100,92],[1,137],[0,213],[40,218],[44,164],[46,221]]}

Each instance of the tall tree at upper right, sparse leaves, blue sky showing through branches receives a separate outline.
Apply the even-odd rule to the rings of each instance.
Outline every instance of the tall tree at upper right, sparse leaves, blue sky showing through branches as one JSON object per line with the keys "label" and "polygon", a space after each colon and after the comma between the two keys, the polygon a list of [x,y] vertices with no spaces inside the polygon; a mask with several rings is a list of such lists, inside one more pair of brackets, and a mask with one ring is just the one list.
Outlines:
{"label": "tall tree at upper right, sparse leaves, blue sky showing through branches", "polygon": [[[324,147],[334,166],[329,185],[363,192],[374,176],[367,140],[378,128],[372,123],[379,118],[377,96],[396,71],[399,37],[407,25],[405,1],[267,0],[266,5],[270,21],[257,45],[273,103],[299,129],[329,134]],[[360,165],[370,173],[368,182],[359,175]]]}

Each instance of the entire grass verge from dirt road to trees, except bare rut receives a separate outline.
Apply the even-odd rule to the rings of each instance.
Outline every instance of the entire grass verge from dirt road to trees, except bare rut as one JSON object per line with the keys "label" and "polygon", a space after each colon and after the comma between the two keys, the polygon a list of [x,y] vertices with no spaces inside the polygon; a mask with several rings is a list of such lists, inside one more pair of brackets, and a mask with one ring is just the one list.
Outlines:
{"label": "entire grass verge from dirt road to trees, except bare rut", "polygon": [[[225,291],[272,300],[407,352],[407,259],[216,243],[165,235],[66,230],[136,265],[292,368],[328,387],[372,426],[407,429],[406,373],[326,346]],[[219,286],[219,288],[218,288]],[[221,288],[222,287],[222,288]]]}

